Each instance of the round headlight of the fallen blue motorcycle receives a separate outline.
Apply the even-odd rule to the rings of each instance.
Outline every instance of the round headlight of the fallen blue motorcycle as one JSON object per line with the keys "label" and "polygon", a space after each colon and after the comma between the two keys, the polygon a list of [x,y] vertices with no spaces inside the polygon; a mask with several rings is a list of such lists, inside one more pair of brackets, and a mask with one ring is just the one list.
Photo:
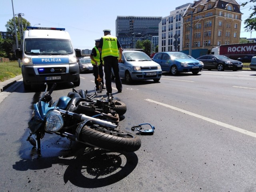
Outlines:
{"label": "round headlight of the fallen blue motorcycle", "polygon": [[52,110],[46,114],[45,130],[57,132],[64,126],[62,115],[57,110]]}

